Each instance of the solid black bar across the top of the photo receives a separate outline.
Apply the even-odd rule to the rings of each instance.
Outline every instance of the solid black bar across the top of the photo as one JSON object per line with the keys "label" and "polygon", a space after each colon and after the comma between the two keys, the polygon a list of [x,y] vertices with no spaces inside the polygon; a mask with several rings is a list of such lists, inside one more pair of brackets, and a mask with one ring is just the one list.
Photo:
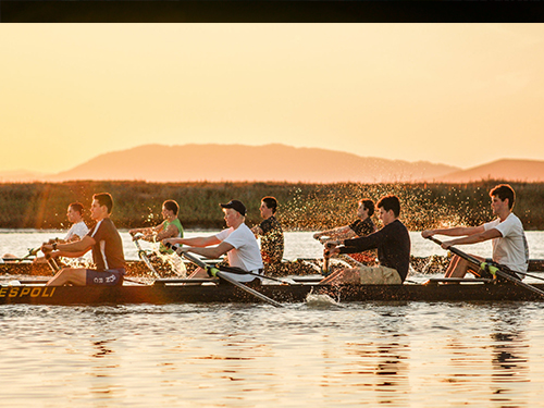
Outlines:
{"label": "solid black bar across the top of the photo", "polygon": [[541,1],[0,1],[2,23],[521,23]]}

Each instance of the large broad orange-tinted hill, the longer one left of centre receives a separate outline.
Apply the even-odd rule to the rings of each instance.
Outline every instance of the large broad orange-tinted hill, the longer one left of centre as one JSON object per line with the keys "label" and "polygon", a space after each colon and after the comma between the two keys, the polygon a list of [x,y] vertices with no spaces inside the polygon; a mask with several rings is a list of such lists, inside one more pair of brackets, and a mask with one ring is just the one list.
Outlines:
{"label": "large broad orange-tinted hill, the longer one left of centre", "polygon": [[460,170],[430,162],[408,162],[317,148],[284,145],[146,145],[96,157],[49,176],[66,180],[140,180],[148,182],[410,182]]}

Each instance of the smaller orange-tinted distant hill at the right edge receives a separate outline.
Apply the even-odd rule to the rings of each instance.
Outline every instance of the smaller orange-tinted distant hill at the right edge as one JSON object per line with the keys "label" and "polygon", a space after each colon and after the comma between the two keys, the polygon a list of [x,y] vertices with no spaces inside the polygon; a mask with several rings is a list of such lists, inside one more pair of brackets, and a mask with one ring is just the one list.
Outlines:
{"label": "smaller orange-tinted distant hill at the right edge", "polygon": [[544,182],[544,161],[502,159],[472,169],[460,170],[437,177],[436,181],[444,183],[468,183],[490,178],[509,182]]}

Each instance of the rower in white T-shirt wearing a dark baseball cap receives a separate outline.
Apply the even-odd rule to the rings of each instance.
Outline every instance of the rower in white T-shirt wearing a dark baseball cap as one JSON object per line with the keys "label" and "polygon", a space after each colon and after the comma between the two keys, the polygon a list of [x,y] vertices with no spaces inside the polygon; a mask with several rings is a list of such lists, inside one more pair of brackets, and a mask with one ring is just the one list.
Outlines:
{"label": "rower in white T-shirt wearing a dark baseball cap", "polygon": [[[254,274],[262,274],[263,264],[259,244],[251,230],[245,224],[246,206],[238,200],[231,200],[220,206],[225,214],[226,230],[206,237],[168,238],[164,239],[164,244],[189,245],[188,248],[183,248],[182,251],[194,252],[209,259],[217,259],[226,254],[228,264],[232,268],[239,268]],[[250,274],[227,274],[237,282],[260,284],[260,277]],[[205,276],[207,276],[207,272],[202,268],[198,268],[189,277]]]}

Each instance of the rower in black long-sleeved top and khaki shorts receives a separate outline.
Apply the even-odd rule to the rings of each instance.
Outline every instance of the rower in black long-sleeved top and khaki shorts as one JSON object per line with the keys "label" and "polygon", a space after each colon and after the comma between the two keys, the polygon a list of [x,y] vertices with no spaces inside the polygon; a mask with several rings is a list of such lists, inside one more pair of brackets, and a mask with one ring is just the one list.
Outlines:
{"label": "rower in black long-sleeved top and khaki shorts", "polygon": [[[380,220],[384,226],[373,234],[354,239],[332,240],[326,244],[325,257],[378,249],[379,267],[360,265],[336,271],[322,280],[322,284],[399,285],[408,275],[410,264],[410,235],[398,219],[400,201],[385,196],[378,201]],[[342,245],[338,247],[338,245]]]}

